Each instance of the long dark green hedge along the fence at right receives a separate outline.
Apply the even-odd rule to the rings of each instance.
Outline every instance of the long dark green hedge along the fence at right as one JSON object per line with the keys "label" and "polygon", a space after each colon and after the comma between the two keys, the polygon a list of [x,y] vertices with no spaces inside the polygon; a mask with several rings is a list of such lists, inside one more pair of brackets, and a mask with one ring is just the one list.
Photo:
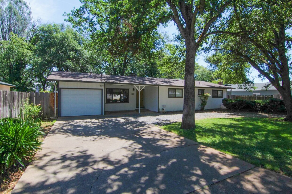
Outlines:
{"label": "long dark green hedge along the fence at right", "polygon": [[227,99],[222,100],[223,105],[230,110],[249,110],[263,112],[285,112],[286,108],[283,100],[270,98],[268,100],[243,100],[243,99]]}

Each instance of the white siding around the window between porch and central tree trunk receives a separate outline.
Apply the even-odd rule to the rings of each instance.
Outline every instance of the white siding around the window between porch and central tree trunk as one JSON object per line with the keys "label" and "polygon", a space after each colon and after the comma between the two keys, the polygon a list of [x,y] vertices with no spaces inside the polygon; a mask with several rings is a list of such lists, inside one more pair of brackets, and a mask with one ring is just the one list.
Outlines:
{"label": "white siding around the window between porch and central tree trunk", "polygon": [[[162,111],[165,105],[165,111],[182,111],[183,98],[168,98],[168,88],[183,89],[183,87],[159,86],[159,109]],[[183,91],[185,93],[185,91]]]}

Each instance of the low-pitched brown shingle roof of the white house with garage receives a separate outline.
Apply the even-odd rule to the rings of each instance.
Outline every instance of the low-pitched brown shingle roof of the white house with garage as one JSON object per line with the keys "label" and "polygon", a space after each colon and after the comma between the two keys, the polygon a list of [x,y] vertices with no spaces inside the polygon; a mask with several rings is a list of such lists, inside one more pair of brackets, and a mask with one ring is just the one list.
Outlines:
{"label": "low-pitched brown shingle roof of the white house with garage", "polygon": [[[112,83],[112,84],[128,84],[128,85],[154,85],[154,86],[184,86],[183,79],[163,79],[152,77],[135,77],[135,76],[114,76],[90,73],[76,72],[52,72],[47,78],[48,81],[70,81],[70,82],[88,82],[88,83]],[[206,81],[196,81],[196,88],[227,88],[231,87],[209,83]]]}

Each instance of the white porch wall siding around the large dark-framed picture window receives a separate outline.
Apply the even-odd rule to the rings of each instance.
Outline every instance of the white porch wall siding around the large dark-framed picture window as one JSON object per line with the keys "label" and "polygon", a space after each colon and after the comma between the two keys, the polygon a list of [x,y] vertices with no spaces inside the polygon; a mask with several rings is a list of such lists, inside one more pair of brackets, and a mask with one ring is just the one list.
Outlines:
{"label": "white porch wall siding around the large dark-framed picture window", "polygon": [[[105,84],[105,91],[107,88],[129,89],[129,103],[105,103],[105,111],[131,111],[136,109],[136,88],[131,85],[115,85]],[[133,91],[134,88],[134,91]],[[104,95],[106,99],[106,92]]]}

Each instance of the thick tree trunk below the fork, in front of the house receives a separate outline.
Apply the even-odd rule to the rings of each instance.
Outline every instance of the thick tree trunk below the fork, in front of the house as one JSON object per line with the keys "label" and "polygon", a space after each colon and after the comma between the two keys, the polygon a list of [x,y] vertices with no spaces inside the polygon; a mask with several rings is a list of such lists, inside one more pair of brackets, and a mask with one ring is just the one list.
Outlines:
{"label": "thick tree trunk below the fork, in front of the house", "polygon": [[194,65],[197,48],[194,40],[185,39],[186,59],[185,59],[185,86],[183,99],[183,120],[181,129],[194,129],[195,124],[195,79]]}

